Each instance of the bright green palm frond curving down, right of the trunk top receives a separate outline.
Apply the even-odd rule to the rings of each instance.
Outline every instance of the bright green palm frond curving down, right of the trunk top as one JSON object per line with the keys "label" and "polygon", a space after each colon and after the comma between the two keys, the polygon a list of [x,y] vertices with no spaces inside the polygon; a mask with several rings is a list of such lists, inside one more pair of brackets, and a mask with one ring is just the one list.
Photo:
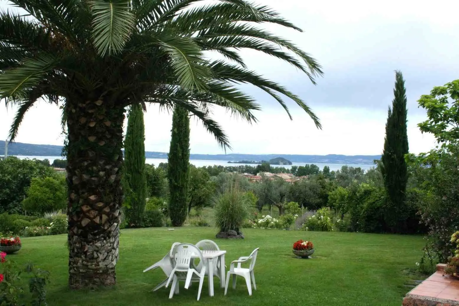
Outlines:
{"label": "bright green palm frond curving down, right of the trunk top", "polygon": [[171,58],[171,66],[181,86],[188,89],[203,90],[210,78],[201,49],[188,37],[163,35],[158,43]]}

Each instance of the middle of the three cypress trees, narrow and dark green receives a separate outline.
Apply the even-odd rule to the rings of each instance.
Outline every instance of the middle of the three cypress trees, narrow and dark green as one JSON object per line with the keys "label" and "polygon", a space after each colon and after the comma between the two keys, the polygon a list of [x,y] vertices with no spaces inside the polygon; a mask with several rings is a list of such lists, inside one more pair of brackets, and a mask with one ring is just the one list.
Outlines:
{"label": "middle of the three cypress trees, narrow and dark green", "polygon": [[190,117],[183,107],[175,106],[168,156],[169,216],[173,226],[186,219],[190,177]]}

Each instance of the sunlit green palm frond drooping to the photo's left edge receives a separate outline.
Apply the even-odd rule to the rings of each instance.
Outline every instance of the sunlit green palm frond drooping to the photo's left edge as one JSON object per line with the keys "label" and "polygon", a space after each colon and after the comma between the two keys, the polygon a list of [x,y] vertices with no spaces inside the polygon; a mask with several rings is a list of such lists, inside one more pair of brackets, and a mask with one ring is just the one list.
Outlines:
{"label": "sunlit green palm frond drooping to the photo's left edge", "polygon": [[22,99],[26,90],[42,81],[42,77],[55,67],[58,60],[50,55],[28,58],[17,67],[0,74],[0,99]]}

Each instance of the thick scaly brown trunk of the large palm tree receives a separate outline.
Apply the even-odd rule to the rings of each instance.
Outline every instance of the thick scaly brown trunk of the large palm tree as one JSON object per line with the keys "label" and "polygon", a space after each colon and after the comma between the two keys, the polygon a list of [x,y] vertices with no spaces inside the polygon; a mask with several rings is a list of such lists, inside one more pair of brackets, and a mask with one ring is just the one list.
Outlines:
{"label": "thick scaly brown trunk of the large palm tree", "polygon": [[72,289],[116,283],[123,200],[124,108],[108,99],[66,106],[69,279]]}

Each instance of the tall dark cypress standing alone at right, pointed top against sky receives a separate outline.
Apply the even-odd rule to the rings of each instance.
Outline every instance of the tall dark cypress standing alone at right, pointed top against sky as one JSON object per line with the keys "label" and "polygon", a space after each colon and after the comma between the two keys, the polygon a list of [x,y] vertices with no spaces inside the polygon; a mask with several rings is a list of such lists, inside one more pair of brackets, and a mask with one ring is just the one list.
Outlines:
{"label": "tall dark cypress standing alone at right, pointed top against sky", "polygon": [[381,156],[381,172],[390,203],[386,206],[385,221],[392,232],[400,231],[403,211],[406,210],[406,185],[408,169],[405,154],[408,154],[406,89],[402,72],[396,71],[394,100],[389,107],[386,123],[386,138]]}

